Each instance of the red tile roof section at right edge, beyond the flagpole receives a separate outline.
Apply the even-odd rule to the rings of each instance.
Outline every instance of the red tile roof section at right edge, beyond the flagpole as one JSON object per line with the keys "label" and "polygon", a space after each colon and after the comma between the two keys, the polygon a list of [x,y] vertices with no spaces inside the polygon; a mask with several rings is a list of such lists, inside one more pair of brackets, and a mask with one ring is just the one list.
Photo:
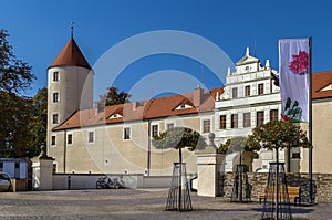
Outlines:
{"label": "red tile roof section at right edge, beyond the flagpole", "polygon": [[332,91],[321,91],[332,84],[332,71],[324,71],[312,74],[312,98],[332,97]]}

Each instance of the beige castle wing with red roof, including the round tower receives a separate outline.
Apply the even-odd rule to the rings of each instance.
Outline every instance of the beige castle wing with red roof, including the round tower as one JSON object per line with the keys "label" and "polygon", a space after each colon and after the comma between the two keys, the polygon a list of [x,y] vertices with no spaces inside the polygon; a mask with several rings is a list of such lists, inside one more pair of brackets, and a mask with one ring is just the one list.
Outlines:
{"label": "beige castle wing with red roof, including the round tower", "polygon": [[[214,130],[214,99],[222,90],[92,107],[93,71],[71,38],[49,70],[48,154],[58,172],[170,175],[174,149],[155,149],[153,136],[174,126],[207,136]],[[188,172],[196,157],[184,150]]]}

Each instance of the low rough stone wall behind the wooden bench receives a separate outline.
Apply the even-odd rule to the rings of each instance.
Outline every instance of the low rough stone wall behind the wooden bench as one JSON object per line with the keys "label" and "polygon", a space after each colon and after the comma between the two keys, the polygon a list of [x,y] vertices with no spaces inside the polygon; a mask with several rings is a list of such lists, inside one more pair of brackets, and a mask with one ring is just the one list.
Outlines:
{"label": "low rough stone wall behind the wooden bench", "polygon": [[[228,172],[219,178],[219,195],[225,198],[231,198],[234,188],[234,172]],[[315,202],[332,202],[332,174],[313,174],[313,196]],[[268,182],[266,172],[248,172],[248,182],[251,186],[251,201],[258,201],[263,193]],[[309,199],[309,179],[308,174],[287,174],[288,186],[301,187],[301,200]]]}

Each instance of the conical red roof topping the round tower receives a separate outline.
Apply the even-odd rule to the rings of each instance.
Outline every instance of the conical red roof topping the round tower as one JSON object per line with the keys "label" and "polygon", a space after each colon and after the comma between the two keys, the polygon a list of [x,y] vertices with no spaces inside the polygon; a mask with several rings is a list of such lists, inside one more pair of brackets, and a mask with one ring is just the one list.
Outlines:
{"label": "conical red roof topping the round tower", "polygon": [[81,66],[91,70],[91,66],[73,38],[68,41],[65,46],[50,65],[50,67],[55,66]]}

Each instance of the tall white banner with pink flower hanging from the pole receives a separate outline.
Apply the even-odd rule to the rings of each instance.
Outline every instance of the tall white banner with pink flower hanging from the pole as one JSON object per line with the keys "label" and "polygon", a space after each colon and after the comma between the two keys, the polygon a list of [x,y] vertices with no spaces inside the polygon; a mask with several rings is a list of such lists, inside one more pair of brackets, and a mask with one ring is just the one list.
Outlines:
{"label": "tall white banner with pink flower hanging from the pole", "polygon": [[281,118],[309,122],[309,39],[279,40]]}

